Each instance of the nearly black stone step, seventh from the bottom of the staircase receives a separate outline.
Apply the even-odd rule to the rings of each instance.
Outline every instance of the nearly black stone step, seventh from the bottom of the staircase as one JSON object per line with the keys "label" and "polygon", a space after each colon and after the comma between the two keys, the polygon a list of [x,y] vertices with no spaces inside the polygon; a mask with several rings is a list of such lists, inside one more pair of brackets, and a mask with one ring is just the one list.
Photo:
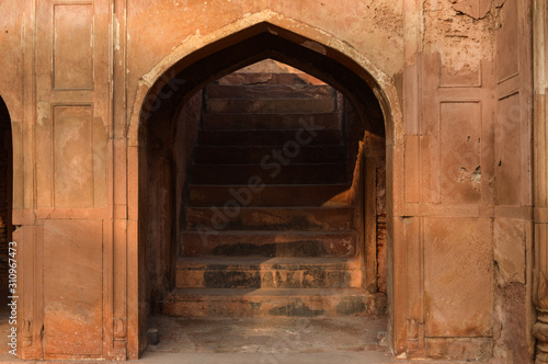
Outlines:
{"label": "nearly black stone step, seventh from the bottom of the staircase", "polygon": [[[194,161],[196,163],[237,163],[259,164],[266,156],[273,156],[279,148],[276,147],[215,147],[196,146]],[[283,150],[283,149],[282,149]],[[282,156],[287,157],[284,152]],[[332,163],[344,160],[345,149],[342,145],[305,146],[298,153],[289,153],[292,163]]]}

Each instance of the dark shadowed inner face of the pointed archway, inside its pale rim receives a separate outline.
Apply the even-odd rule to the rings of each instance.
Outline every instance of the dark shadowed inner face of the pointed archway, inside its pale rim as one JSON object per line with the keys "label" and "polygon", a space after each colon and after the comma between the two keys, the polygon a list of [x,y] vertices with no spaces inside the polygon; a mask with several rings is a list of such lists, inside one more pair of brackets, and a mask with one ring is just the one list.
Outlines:
{"label": "dark shadowed inner face of the pointed archway, inside its pale rim", "polygon": [[[163,292],[169,291],[175,275],[178,247],[173,242],[178,240],[178,231],[174,227],[179,221],[171,217],[169,219],[161,218],[162,215],[173,216],[173,212],[178,208],[174,204],[176,191],[173,189],[175,171],[172,169],[172,153],[169,146],[174,133],[170,122],[182,104],[191,101],[198,90],[212,81],[266,58],[285,62],[321,78],[352,102],[357,114],[362,116],[365,129],[373,134],[386,135],[386,144],[389,148],[395,144],[393,115],[389,106],[390,102],[385,99],[384,91],[363,66],[338,50],[327,48],[272,24],[260,23],[219,42],[214,42],[172,65],[163,73],[158,75],[159,77],[150,87],[147,95],[144,95],[142,106],[139,109],[139,125],[141,126],[137,129],[136,124],[133,124],[133,128],[130,127],[129,138],[139,146],[140,194],[138,209],[141,221],[139,236],[142,240],[139,241],[139,251],[141,252],[139,254],[140,307],[148,307],[151,310],[158,309],[153,307],[155,302],[161,302],[161,299],[155,300],[152,297],[161,296],[162,289]],[[364,117],[365,115],[367,117]],[[147,147],[151,144],[155,146],[153,150]],[[387,195],[390,204],[392,203],[392,198],[390,198],[390,172],[393,155],[388,153],[388,156]],[[152,185],[155,187],[151,189]],[[159,205],[162,206],[159,207]],[[151,214],[155,208],[160,208],[156,211],[162,213]],[[388,206],[388,235],[390,235],[390,214],[391,208]],[[160,219],[152,223],[155,217],[160,217]],[[158,284],[156,287],[150,286],[152,280],[146,271],[147,259],[150,258],[146,253],[147,247],[158,242],[158,240],[150,239],[155,234],[167,242],[161,248],[161,254],[169,257],[167,261],[164,260],[164,266],[161,268],[163,271],[157,272],[158,274],[153,276],[157,283],[160,282],[160,291],[153,291]],[[391,253],[388,251],[389,257]],[[391,270],[388,271],[390,275]],[[389,295],[391,289],[389,280]],[[145,337],[142,329],[146,328],[146,315],[149,309],[141,309],[139,312],[141,342]],[[393,312],[393,308],[390,308],[389,311]],[[393,325],[393,317],[390,318],[390,321]],[[389,325],[390,327],[391,325]]]}

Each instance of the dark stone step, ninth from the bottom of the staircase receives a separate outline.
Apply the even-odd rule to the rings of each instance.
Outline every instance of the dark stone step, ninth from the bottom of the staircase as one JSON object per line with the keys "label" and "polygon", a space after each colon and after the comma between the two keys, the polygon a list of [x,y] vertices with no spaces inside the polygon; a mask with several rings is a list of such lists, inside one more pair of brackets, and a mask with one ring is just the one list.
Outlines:
{"label": "dark stone step, ninth from the bottom of the staircase", "polygon": [[316,125],[327,129],[339,128],[336,113],[322,114],[203,114],[202,128],[206,130],[226,129],[299,129],[302,122],[310,124],[313,118]]}

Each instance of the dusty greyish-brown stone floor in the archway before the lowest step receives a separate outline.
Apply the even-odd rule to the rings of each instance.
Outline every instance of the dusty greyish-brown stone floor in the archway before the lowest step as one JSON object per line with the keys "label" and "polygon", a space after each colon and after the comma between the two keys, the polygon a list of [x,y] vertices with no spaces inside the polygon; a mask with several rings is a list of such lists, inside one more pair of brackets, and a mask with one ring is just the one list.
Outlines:
{"label": "dusty greyish-brown stone floor in the archway before the lowest step", "polygon": [[[150,352],[258,353],[265,357],[290,353],[375,351],[386,353],[379,332],[386,316],[326,318],[152,317],[160,342]],[[384,341],[381,338],[381,341]]]}

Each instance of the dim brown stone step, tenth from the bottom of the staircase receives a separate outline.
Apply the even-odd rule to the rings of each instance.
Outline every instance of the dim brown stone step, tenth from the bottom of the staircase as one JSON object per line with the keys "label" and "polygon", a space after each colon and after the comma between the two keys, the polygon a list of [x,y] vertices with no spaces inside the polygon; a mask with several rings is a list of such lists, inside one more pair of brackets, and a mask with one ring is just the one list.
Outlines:
{"label": "dim brown stone step, tenth from the bottom of the staircase", "polygon": [[206,113],[331,113],[335,111],[335,99],[207,99]]}

